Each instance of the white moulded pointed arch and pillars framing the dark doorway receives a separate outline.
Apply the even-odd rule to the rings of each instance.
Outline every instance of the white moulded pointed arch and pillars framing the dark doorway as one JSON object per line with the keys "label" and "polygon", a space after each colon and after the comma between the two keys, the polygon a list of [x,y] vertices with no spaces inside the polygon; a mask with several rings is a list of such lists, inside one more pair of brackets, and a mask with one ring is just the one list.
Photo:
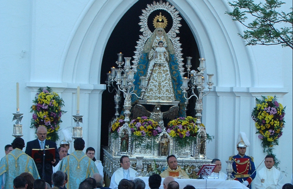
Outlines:
{"label": "white moulded pointed arch and pillars framing the dark doorway", "polygon": [[[105,74],[100,73],[104,49],[115,25],[136,1],[89,1],[64,48],[58,70],[60,83],[53,84],[72,102],[67,118],[75,114],[75,91],[78,85],[81,87],[84,139],[87,146],[95,147],[97,152],[101,134],[101,93],[106,89],[100,84],[100,74]],[[201,57],[206,58],[206,72],[215,74],[215,86],[204,98],[203,123],[207,132],[215,136],[208,145],[207,156],[227,160],[235,153],[239,131],[246,132],[252,143],[248,154],[262,156],[250,118],[253,97],[275,95],[276,92],[282,97],[286,89],[259,88],[253,56],[237,36],[241,31],[239,25],[224,14],[228,10],[225,1],[173,0],[170,3],[180,11],[193,31]],[[35,89],[38,85],[41,84],[29,83],[27,86]],[[97,139],[93,141],[92,138]]]}

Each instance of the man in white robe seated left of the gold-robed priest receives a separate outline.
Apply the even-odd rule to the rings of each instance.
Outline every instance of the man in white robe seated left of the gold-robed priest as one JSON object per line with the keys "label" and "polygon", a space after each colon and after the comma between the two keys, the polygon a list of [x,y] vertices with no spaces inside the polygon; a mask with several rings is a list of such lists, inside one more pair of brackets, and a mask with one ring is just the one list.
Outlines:
{"label": "man in white robe seated left of the gold-robed priest", "polygon": [[111,177],[109,188],[117,189],[118,184],[122,179],[133,180],[135,178],[137,171],[130,167],[130,160],[128,156],[121,156],[120,165],[121,167],[117,169]]}

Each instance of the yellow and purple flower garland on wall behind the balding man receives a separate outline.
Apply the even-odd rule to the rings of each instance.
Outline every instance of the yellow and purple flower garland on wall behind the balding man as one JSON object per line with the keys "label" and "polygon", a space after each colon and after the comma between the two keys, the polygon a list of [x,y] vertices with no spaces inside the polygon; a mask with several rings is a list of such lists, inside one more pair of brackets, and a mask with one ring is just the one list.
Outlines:
{"label": "yellow and purple flower garland on wall behind the balding man", "polygon": [[39,88],[30,112],[33,112],[30,128],[37,129],[42,125],[47,128],[47,139],[58,141],[58,130],[60,129],[61,116],[66,111],[61,110],[64,101],[56,92],[52,92],[50,87],[47,89]]}

